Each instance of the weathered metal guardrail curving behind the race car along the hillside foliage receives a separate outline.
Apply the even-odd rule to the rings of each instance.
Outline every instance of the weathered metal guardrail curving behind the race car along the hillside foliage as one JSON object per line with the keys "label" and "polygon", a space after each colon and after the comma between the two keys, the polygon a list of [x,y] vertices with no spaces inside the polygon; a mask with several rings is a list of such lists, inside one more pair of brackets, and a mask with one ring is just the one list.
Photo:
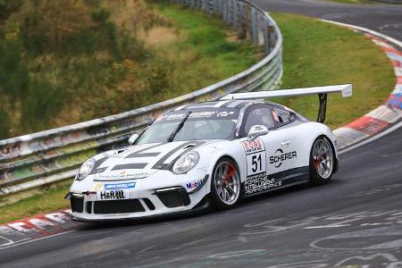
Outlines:
{"label": "weathered metal guardrail curving behind the race car along the hillside foliage", "polygon": [[267,56],[238,75],[184,96],[70,126],[0,140],[0,196],[72,178],[88,157],[127,146],[127,139],[159,113],[229,93],[277,87],[282,74],[282,38],[275,21],[243,0],[172,0],[219,14],[259,45]]}

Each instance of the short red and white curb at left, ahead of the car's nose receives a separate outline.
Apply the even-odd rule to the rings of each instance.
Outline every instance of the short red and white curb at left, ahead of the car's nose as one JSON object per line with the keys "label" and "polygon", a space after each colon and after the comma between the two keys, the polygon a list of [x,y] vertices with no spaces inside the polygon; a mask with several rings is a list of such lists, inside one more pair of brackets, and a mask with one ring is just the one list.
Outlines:
{"label": "short red and white curb at left, ahead of the car's nose", "polygon": [[78,226],[78,223],[71,221],[71,210],[39,214],[0,225],[0,247],[52,236],[67,230],[77,229]]}

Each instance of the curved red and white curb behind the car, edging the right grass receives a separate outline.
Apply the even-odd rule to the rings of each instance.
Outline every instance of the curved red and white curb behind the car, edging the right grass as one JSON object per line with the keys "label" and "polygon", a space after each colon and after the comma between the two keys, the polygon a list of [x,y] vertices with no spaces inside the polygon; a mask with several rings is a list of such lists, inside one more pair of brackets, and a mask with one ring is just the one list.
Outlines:
{"label": "curved red and white curb behind the car, edging the right grass", "polygon": [[345,149],[372,138],[402,119],[402,43],[371,29],[336,21],[322,21],[363,32],[366,38],[370,38],[376,45],[381,46],[388,55],[397,77],[397,84],[383,105],[333,131],[338,138],[338,148]]}

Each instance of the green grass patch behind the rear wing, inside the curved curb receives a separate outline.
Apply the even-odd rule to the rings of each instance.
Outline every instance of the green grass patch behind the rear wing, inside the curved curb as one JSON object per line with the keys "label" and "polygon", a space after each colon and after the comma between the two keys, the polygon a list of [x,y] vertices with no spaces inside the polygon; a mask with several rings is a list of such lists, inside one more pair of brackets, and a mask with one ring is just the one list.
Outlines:
{"label": "green grass patch behind the rear wing, inside the curved curb", "polygon": [[[353,84],[353,96],[330,95],[326,123],[337,128],[385,102],[396,83],[387,55],[350,29],[299,15],[274,13],[283,34],[281,88]],[[316,96],[280,100],[316,120]]]}

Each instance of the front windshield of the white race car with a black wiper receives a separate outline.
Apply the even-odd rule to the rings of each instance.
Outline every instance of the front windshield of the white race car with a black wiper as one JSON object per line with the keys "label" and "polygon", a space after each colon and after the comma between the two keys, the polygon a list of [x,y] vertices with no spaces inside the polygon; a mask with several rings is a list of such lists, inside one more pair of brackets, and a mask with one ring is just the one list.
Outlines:
{"label": "front windshield of the white race car with a black wiper", "polygon": [[231,139],[236,130],[239,110],[205,108],[161,114],[136,140],[136,144],[167,142],[172,132],[188,115],[172,141]]}

